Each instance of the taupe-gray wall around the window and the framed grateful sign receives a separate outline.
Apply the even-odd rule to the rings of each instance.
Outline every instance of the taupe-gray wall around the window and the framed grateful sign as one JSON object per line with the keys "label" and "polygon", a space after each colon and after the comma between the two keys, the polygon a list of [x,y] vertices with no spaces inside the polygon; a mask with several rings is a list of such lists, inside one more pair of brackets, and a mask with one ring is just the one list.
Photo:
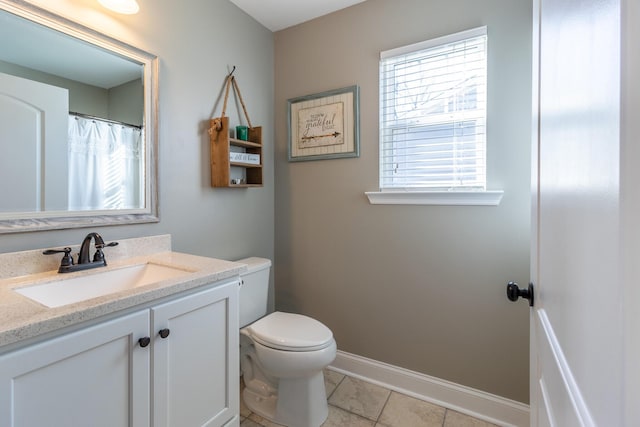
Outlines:
{"label": "taupe-gray wall around the window and the framed grateful sign", "polygon": [[[275,34],[276,307],[338,349],[528,402],[530,0],[368,0]],[[498,207],[370,205],[382,50],[489,34],[488,182]],[[286,100],[357,84],[361,156],[287,162]]]}

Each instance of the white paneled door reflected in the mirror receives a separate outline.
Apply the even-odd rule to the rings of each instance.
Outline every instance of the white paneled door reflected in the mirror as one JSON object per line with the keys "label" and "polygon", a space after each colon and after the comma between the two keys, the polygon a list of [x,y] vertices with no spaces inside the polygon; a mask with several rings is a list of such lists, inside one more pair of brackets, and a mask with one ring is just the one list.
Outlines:
{"label": "white paneled door reflected in the mirror", "polygon": [[0,73],[0,214],[67,210],[69,91]]}

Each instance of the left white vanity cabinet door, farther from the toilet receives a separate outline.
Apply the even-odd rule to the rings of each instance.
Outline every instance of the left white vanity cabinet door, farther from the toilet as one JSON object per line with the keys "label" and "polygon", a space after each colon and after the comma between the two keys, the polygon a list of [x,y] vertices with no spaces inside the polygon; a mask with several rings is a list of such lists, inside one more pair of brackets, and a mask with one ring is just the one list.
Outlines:
{"label": "left white vanity cabinet door, farther from the toilet", "polygon": [[0,356],[0,426],[148,426],[144,311]]}

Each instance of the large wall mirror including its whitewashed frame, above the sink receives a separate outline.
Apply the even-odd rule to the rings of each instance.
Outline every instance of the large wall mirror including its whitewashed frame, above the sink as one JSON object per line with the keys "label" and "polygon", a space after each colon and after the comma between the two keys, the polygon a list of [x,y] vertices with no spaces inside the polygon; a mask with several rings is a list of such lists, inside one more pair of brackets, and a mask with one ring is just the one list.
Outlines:
{"label": "large wall mirror including its whitewashed frame, above the sink", "polygon": [[158,60],[0,0],[0,233],[157,222]]}

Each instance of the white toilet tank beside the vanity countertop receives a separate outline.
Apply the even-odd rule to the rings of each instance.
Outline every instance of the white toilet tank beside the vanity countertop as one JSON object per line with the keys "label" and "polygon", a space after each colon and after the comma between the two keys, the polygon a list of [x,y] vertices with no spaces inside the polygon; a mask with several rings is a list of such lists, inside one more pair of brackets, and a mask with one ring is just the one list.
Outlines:
{"label": "white toilet tank beside the vanity countertop", "polygon": [[267,314],[271,260],[251,257],[235,262],[248,266],[247,272],[240,275],[240,327],[244,328]]}

